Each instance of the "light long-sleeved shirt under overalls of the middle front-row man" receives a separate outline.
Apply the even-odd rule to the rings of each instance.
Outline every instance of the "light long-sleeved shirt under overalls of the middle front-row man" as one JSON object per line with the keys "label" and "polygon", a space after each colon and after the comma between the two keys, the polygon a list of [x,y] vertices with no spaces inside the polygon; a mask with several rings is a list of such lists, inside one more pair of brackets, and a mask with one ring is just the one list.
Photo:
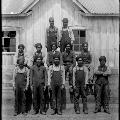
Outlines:
{"label": "light long-sleeved shirt under overalls of the middle front-row man", "polygon": [[51,77],[52,77],[52,73],[53,71],[60,71],[61,70],[61,76],[62,76],[62,84],[65,84],[65,69],[64,69],[64,66],[55,66],[54,64],[51,65],[49,67],[49,70],[48,70],[48,85],[50,85],[51,83]]}

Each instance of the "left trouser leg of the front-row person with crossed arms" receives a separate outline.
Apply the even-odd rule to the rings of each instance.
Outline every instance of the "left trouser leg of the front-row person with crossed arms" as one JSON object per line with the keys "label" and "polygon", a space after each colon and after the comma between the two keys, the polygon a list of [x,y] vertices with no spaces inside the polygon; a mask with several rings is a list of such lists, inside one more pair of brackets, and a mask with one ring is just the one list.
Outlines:
{"label": "left trouser leg of the front-row person with crossed arms", "polygon": [[102,86],[95,84],[95,109],[100,110],[101,109],[101,92],[102,92]]}

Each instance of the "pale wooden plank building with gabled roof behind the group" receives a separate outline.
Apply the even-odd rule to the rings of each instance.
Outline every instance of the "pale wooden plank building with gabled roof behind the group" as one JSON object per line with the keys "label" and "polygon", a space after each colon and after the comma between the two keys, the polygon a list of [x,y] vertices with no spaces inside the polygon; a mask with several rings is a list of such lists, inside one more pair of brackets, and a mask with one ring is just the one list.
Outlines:
{"label": "pale wooden plank building with gabled roof behind the group", "polygon": [[59,30],[62,27],[62,19],[68,18],[69,27],[75,36],[76,53],[81,50],[81,43],[87,41],[94,66],[99,64],[99,56],[107,57],[107,64],[114,76],[111,77],[112,96],[118,97],[118,0],[3,0],[3,79],[7,79],[6,71],[12,73],[13,57],[19,43],[26,46],[26,52],[30,56],[34,52],[34,44],[41,42],[43,51],[47,54],[45,31],[51,16],[54,17],[55,26]]}

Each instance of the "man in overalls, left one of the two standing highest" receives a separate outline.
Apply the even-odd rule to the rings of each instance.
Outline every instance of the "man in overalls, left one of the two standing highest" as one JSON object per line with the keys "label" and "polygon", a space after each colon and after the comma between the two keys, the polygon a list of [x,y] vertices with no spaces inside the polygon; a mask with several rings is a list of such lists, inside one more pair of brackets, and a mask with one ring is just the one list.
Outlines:
{"label": "man in overalls, left one of the two standing highest", "polygon": [[46,40],[45,46],[47,48],[47,52],[52,51],[51,44],[55,42],[58,45],[58,28],[54,26],[54,18],[49,18],[50,26],[46,30]]}

